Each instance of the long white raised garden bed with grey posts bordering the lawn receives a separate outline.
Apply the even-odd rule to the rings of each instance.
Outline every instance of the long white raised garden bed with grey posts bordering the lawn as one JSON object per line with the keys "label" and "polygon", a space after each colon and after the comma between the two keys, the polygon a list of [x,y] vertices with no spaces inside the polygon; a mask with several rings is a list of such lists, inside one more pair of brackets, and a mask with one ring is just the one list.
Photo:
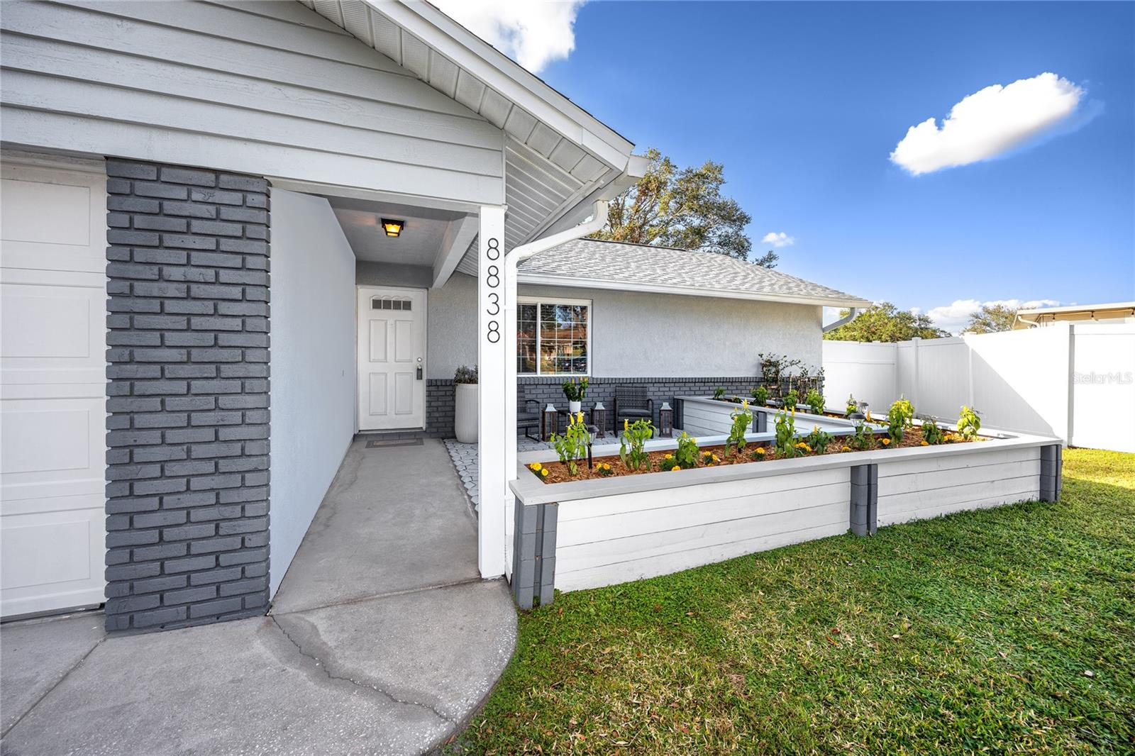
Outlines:
{"label": "long white raised garden bed with grey posts bordering the lawn", "polygon": [[[797,426],[805,432],[812,428],[800,413]],[[550,484],[527,465],[556,470],[555,452],[521,454],[511,484],[518,507],[510,522],[516,527],[510,534],[515,537],[513,569],[520,570],[514,588],[518,596],[526,590],[533,565],[543,565],[536,570],[536,595],[550,600],[553,586],[613,585],[849,529],[869,534],[896,522],[1058,494],[1057,438],[983,429],[982,443],[923,446],[919,435],[917,428],[908,431],[898,448],[842,452],[836,440],[826,454],[759,462],[740,463],[717,452],[720,463],[679,472],[597,477],[592,468],[561,482],[557,471],[557,482]],[[746,438],[745,456],[773,443],[770,432]],[[723,435],[698,438],[708,451],[725,440]],[[676,445],[674,439],[647,442],[653,467]],[[594,450],[595,459],[612,468],[621,467],[617,453],[617,445]],[[587,470],[586,462],[580,469]],[[543,544],[545,551],[533,553],[529,544]],[[527,590],[528,604],[518,598],[522,606],[531,605],[531,587]]]}

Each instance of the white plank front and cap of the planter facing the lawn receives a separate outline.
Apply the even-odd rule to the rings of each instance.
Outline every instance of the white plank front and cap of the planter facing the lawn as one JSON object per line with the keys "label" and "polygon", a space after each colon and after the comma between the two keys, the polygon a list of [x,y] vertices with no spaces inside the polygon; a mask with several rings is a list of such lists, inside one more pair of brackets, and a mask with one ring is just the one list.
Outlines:
{"label": "white plank front and cap of the planter facing the lawn", "polygon": [[521,470],[513,490],[526,505],[557,504],[555,587],[579,590],[844,534],[856,465],[877,465],[880,527],[1036,499],[1042,450],[1058,443],[1006,437],[554,485]]}

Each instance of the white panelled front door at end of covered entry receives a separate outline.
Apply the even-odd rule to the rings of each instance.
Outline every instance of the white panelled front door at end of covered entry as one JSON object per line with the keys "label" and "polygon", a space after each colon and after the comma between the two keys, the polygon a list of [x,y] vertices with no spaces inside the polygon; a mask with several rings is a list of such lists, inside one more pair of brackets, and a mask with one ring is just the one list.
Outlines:
{"label": "white panelled front door at end of covered entry", "polygon": [[359,287],[359,430],[423,428],[426,291]]}

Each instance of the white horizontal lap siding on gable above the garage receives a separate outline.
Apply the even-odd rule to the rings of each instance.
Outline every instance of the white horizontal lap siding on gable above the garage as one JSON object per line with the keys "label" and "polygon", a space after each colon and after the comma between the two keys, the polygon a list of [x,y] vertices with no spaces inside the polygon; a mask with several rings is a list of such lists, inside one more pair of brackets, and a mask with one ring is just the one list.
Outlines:
{"label": "white horizontal lap siding on gable above the garage", "polygon": [[504,196],[501,129],[297,2],[6,2],[0,30],[9,144]]}

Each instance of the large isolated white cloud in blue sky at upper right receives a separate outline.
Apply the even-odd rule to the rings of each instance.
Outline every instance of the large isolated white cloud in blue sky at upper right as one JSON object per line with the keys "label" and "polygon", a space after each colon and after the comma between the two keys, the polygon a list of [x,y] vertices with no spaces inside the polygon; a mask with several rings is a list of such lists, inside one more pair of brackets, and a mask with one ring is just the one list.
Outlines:
{"label": "large isolated white cloud in blue sky at upper right", "polygon": [[934,118],[911,126],[891,161],[917,176],[995,158],[1067,125],[1083,96],[1083,89],[1049,73],[986,86],[953,106],[941,128]]}

